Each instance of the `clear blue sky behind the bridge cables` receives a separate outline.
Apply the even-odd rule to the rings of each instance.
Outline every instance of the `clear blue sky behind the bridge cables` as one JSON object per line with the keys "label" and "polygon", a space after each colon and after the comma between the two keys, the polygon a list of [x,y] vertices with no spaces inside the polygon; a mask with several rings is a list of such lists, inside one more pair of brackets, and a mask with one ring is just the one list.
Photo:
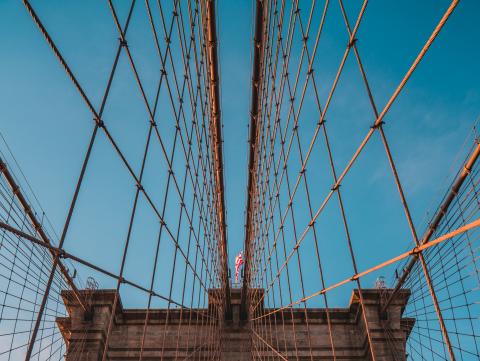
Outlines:
{"label": "clear blue sky behind the bridge cables", "polygon": [[[349,3],[351,22],[361,2]],[[95,104],[100,103],[118,35],[107,2],[32,1],[67,62]],[[120,11],[127,2],[117,1]],[[358,32],[358,47],[377,103],[383,108],[433,28],[449,5],[445,0],[371,1]],[[305,6],[307,8],[307,6]],[[249,123],[252,1],[219,1],[219,55],[230,264],[243,248],[247,180],[247,125]],[[385,118],[385,130],[398,164],[416,226],[425,229],[428,214],[448,185],[452,164],[465,155],[462,144],[480,115],[480,3],[460,3],[444,30],[418,67]],[[129,44],[139,61],[140,75],[152,78],[156,62],[143,2],[132,19]],[[70,79],[48,48],[21,2],[0,0],[0,130],[57,232],[65,220],[91,127],[91,114]],[[347,43],[336,1],[325,25],[317,57],[322,102]],[[106,114],[113,132],[133,160],[140,161],[139,128],[132,119],[145,118],[145,110],[124,55]],[[354,58],[346,65],[327,119],[331,124],[336,162],[343,168],[373,123],[373,115]],[[147,80],[148,83],[148,80]],[[308,107],[307,107],[308,109]],[[308,110],[307,110],[308,111]],[[308,116],[308,113],[306,113]],[[145,118],[146,119],[146,118]],[[106,122],[108,119],[106,120]],[[147,123],[143,124],[146,127]],[[143,131],[143,128],[142,128]],[[302,134],[308,138],[309,134]],[[134,187],[105,140],[94,149],[86,187],[82,191],[66,249],[116,270],[125,237]],[[2,145],[2,151],[5,151]],[[411,243],[398,195],[379,139],[346,179],[345,202],[351,215],[359,268],[395,256]],[[381,156],[378,156],[381,154]],[[458,169],[458,162],[455,163]],[[315,188],[315,187],[313,187]],[[315,204],[324,189],[315,190]],[[322,218],[329,282],[351,275],[345,251],[335,241],[338,220]],[[146,221],[147,222],[147,221]],[[139,235],[148,239],[154,233]],[[336,233],[337,232],[337,233]],[[343,240],[342,240],[343,241]],[[375,256],[371,250],[375,249]],[[145,284],[141,264],[149,246],[136,247],[128,261],[128,274]],[[108,254],[108,257],[104,257]],[[102,255],[102,256],[101,256]],[[335,256],[337,255],[337,256]],[[307,261],[307,265],[309,261]],[[308,267],[308,266],[307,266]],[[83,274],[84,278],[88,272]],[[389,274],[386,274],[389,276]],[[371,285],[373,279],[366,280]],[[112,281],[100,278],[101,287]],[[311,286],[319,289],[318,284]],[[337,300],[338,305],[346,299]],[[132,304],[135,304],[132,298]]]}

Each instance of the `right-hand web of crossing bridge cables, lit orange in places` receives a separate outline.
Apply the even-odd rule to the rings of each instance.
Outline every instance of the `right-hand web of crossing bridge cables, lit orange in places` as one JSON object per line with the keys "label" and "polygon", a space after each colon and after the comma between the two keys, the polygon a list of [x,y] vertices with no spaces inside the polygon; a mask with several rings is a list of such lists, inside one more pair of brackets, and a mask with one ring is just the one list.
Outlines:
{"label": "right-hand web of crossing bridge cables, lit orange in places", "polygon": [[[413,359],[422,360],[455,360],[479,356],[476,333],[478,309],[475,305],[478,297],[474,292],[478,284],[472,284],[472,279],[476,280],[478,275],[478,246],[474,246],[471,240],[479,224],[476,173],[473,171],[480,150],[478,140],[475,138],[472,141],[473,148],[456,182],[452,184],[451,191],[439,206],[437,217],[430,223],[425,236],[419,238],[384,130],[385,117],[390,108],[458,3],[451,2],[383,110],[380,110],[374,100],[357,44],[357,34],[367,11],[367,1],[363,1],[353,21],[348,17],[343,1],[338,2],[348,42],[323,104],[320,98],[325,94],[325,84],[324,78],[320,78],[320,83],[317,75],[323,75],[321,60],[317,55],[325,22],[334,11],[330,10],[331,2],[326,1],[323,7],[316,2],[308,6],[303,4],[306,8],[300,8],[298,1],[255,2],[243,305],[244,312],[250,315],[252,352],[256,359],[314,360],[319,357],[320,351],[315,350],[312,341],[318,335],[310,326],[317,320],[309,320],[308,312],[311,307],[308,303],[311,305],[317,296],[322,297],[322,305],[325,307],[328,325],[325,337],[329,340],[329,355],[337,359],[338,348],[343,349],[345,345],[341,340],[336,341],[328,295],[341,286],[353,283],[358,292],[361,309],[359,317],[363,318],[366,353],[370,359],[375,360],[380,350],[376,350],[371,334],[374,326],[369,324],[366,317],[368,312],[365,309],[361,279],[404,259],[408,260],[408,264],[402,264],[404,268],[396,270],[398,278],[393,280],[396,286],[393,292],[385,290],[382,308],[388,308],[400,289],[411,290],[412,299],[405,312],[405,315],[411,317],[410,325],[404,325],[405,333],[410,335],[407,345],[409,355]],[[338,122],[338,119],[329,118],[327,122],[327,111],[332,105],[335,106],[335,92],[351,57],[354,57],[370,103],[372,123],[366,127],[366,135],[353,155],[347,158],[346,166],[339,169],[328,130],[329,124]],[[355,247],[342,186],[361,154],[367,152],[367,144],[372,142],[375,134],[378,134],[383,145],[412,237],[410,242],[413,241],[415,247],[361,271],[358,267],[358,251],[355,252],[354,249],[366,245],[357,243]],[[328,171],[330,168],[331,174],[328,188],[324,182],[319,181],[319,164],[323,160],[318,157],[318,152],[327,154],[329,167],[325,169]],[[375,156],[378,157],[378,154]],[[472,179],[467,180],[470,177]],[[324,192],[320,192],[323,201],[316,206],[319,184],[324,187]],[[463,200],[462,194],[467,194]],[[345,247],[353,276],[328,284],[325,272],[331,270],[325,271],[320,242],[322,227],[317,224],[327,212],[330,219],[333,219],[332,207],[336,208],[340,215],[339,223],[344,228]],[[324,222],[322,224],[325,225]],[[407,245],[409,240],[405,242]],[[311,255],[315,255],[316,259],[315,276],[311,266],[305,270],[305,265],[313,263]],[[305,261],[306,258],[308,262]],[[305,275],[306,271],[308,276]],[[315,282],[312,281],[313,278]],[[307,293],[306,288],[311,289],[312,283],[319,285],[319,290]],[[455,298],[456,301],[462,299],[463,302],[457,303]],[[299,318],[304,320],[304,325],[295,321]],[[417,320],[416,323],[414,320]],[[405,320],[407,321],[408,319]],[[382,327],[384,337],[392,345],[391,357],[404,359],[401,357],[403,351],[395,349],[388,322]],[[303,337],[305,334],[306,338]]]}

